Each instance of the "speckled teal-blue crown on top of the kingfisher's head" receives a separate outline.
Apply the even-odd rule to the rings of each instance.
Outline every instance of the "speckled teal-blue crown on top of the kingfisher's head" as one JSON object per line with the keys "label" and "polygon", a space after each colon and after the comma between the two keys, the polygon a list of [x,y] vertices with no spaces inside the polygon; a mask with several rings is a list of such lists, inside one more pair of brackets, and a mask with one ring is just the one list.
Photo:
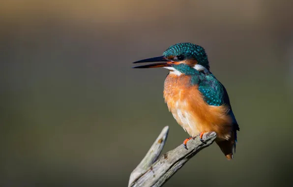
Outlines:
{"label": "speckled teal-blue crown on top of the kingfisher's head", "polygon": [[207,55],[205,49],[202,46],[195,45],[193,43],[176,43],[170,46],[163,55],[165,57],[169,56],[179,56],[184,55],[185,57],[194,57],[198,64],[203,65],[209,70],[209,64],[207,60]]}

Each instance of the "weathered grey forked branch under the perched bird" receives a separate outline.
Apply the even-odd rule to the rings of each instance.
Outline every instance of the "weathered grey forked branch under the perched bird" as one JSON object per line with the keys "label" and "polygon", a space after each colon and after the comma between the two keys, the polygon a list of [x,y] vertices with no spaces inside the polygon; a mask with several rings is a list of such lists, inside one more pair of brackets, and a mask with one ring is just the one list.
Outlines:
{"label": "weathered grey forked branch under the perched bird", "polygon": [[158,159],[164,148],[168,131],[169,126],[165,126],[141,163],[132,171],[128,187],[161,187],[190,158],[210,146],[217,136],[215,132],[205,133],[203,135],[205,143],[201,142],[198,137],[191,139],[187,142],[188,150],[179,145]]}

